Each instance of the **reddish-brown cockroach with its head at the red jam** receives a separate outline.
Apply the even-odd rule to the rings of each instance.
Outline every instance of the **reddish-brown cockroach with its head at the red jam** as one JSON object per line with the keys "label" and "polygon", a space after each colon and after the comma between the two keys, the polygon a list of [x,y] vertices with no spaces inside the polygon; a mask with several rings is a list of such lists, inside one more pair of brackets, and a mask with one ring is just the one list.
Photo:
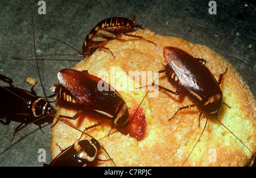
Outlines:
{"label": "reddish-brown cockroach with its head at the red jam", "polygon": [[[64,118],[76,119],[84,109],[92,109],[112,119],[112,127],[129,125],[126,102],[107,82],[89,74],[88,71],[76,71],[74,69],[61,69],[57,76],[60,84],[53,84],[51,88],[57,98],[82,107],[73,117],[63,116]],[[99,85],[104,85],[105,89],[99,90]],[[87,129],[101,125],[101,123],[99,121]]]}

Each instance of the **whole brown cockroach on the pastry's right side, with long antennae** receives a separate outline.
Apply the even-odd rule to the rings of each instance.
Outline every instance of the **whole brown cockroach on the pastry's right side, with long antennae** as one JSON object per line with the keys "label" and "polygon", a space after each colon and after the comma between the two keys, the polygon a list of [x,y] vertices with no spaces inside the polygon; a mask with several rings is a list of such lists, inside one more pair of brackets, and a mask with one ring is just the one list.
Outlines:
{"label": "whole brown cockroach on the pastry's right side, with long antennae", "polygon": [[[164,47],[163,55],[166,63],[164,64],[164,70],[159,71],[159,73],[165,72],[166,76],[176,85],[176,92],[162,86],[159,86],[159,88],[175,95],[179,95],[182,91],[188,92],[188,94],[196,101],[196,104],[180,107],[172,118],[174,118],[177,112],[180,110],[199,106],[201,108],[199,123],[200,117],[203,113],[207,116],[207,121],[208,117],[217,119],[218,113],[220,112],[222,104],[224,103],[220,84],[222,77],[228,69],[226,68],[226,71],[220,74],[217,81],[213,74],[205,66],[206,61],[204,59],[197,59],[189,55],[187,52],[174,47]],[[172,118],[170,118],[169,121]],[[217,121],[220,122],[218,119]],[[205,126],[206,125],[207,122],[205,123]],[[222,123],[221,125],[224,126]],[[205,130],[205,126],[203,132]],[[226,126],[224,127],[231,134],[233,134]],[[201,138],[201,135],[199,139]],[[236,135],[234,136],[237,138]],[[197,140],[196,144],[199,142],[199,139]],[[254,155],[254,153],[240,139],[238,140]],[[196,147],[196,144],[193,149]],[[189,155],[191,155],[192,151]]]}

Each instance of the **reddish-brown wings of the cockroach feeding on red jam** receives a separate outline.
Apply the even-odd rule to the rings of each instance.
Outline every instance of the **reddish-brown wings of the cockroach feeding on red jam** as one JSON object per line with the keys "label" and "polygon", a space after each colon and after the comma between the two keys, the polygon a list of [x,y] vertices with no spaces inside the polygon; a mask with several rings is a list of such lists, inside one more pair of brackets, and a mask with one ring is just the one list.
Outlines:
{"label": "reddish-brown wings of the cockroach feeding on red jam", "polygon": [[114,115],[123,101],[122,97],[107,82],[103,82],[105,90],[99,90],[98,84],[102,81],[101,78],[93,76],[87,71],[62,69],[58,73],[58,78],[60,84],[79,100],[79,104],[85,105],[88,109]]}

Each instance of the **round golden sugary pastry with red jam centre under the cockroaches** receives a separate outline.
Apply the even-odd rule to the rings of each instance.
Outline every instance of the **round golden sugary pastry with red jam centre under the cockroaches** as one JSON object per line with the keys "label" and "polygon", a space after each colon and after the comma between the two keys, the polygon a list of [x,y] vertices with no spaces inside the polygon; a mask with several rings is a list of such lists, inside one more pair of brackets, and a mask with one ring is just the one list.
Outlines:
{"label": "round golden sugary pastry with red jam centre under the cockroaches", "polygon": [[[255,100],[232,65],[203,45],[192,44],[180,38],[155,35],[150,30],[138,30],[132,34],[143,36],[156,45],[143,39],[122,36],[110,40],[105,45],[113,52],[114,57],[106,49],[97,49],[93,55],[81,61],[73,69],[87,70],[89,74],[98,76],[112,85],[125,100],[131,121],[155,78],[157,78],[155,82],[160,86],[176,91],[176,86],[166,74],[156,72],[162,70],[165,63],[164,47],[177,47],[193,57],[205,59],[207,61],[205,66],[217,81],[227,68],[220,84],[225,104],[222,105],[218,120],[237,138],[207,114],[201,116],[199,125],[201,108],[197,106],[181,110],[172,118],[180,107],[195,104],[195,101],[185,92],[175,96],[156,86],[150,88],[137,114],[125,129],[112,129],[111,119],[93,110],[84,110],[75,120],[63,119],[63,121],[83,131],[85,127],[92,126],[102,119],[103,123],[100,126],[89,129],[86,133],[100,142],[117,166],[253,164],[254,156],[251,151],[255,153],[256,147]],[[56,105],[57,115],[72,117],[79,110],[76,106],[58,98]],[[205,126],[207,118],[208,122]],[[55,122],[56,119],[53,123]],[[113,133],[116,130],[118,131]],[[106,136],[109,133],[110,135]],[[61,152],[60,148],[67,148],[85,137],[91,139],[85,134],[81,137],[80,131],[65,123],[57,122],[51,131],[52,158]],[[114,165],[102,149],[98,151],[97,158],[93,165]]]}

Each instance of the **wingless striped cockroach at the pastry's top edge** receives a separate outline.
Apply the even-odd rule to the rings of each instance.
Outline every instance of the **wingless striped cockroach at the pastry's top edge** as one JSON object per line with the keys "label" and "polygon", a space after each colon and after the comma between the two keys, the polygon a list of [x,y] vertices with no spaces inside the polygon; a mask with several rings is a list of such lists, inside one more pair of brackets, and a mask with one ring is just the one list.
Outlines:
{"label": "wingless striped cockroach at the pastry's top edge", "polygon": [[134,31],[135,27],[143,29],[141,25],[135,22],[135,15],[133,16],[133,20],[123,17],[112,17],[101,20],[86,36],[84,44],[82,45],[82,55],[89,57],[97,48],[108,49],[104,47],[104,45],[106,45],[109,40],[120,38],[122,35],[143,39],[155,44],[142,36],[127,34],[128,32]]}

